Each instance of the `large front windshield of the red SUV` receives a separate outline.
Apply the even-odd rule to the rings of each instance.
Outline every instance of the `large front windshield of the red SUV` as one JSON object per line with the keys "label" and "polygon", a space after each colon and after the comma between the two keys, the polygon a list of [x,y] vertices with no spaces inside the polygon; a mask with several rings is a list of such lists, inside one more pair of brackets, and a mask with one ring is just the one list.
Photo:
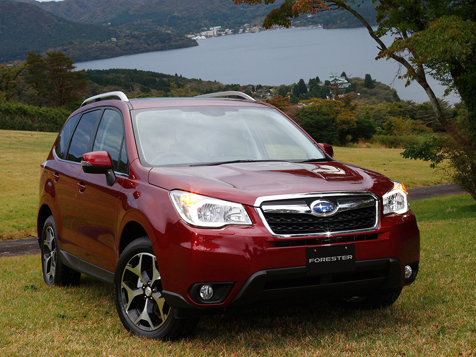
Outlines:
{"label": "large front windshield of the red SUV", "polygon": [[274,109],[174,107],[132,114],[144,166],[325,158],[296,125]]}

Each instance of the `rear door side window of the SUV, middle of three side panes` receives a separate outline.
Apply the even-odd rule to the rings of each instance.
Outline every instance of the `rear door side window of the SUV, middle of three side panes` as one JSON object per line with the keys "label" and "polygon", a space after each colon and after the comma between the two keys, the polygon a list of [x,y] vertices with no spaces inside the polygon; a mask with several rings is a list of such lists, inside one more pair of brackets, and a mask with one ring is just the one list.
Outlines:
{"label": "rear door side window of the SUV, middle of three side panes", "polygon": [[91,141],[99,114],[101,114],[100,110],[83,114],[74,131],[73,139],[71,139],[66,160],[81,162],[81,156],[88,152],[89,142]]}

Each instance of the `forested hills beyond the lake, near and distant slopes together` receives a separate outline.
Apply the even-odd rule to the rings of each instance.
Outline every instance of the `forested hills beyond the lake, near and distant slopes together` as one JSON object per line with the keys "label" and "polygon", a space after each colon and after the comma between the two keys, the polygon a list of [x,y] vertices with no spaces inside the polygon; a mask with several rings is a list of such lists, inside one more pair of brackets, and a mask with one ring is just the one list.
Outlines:
{"label": "forested hills beyond the lake, near and distant slopes together", "polygon": [[[236,32],[245,24],[260,27],[266,14],[283,2],[248,6],[231,0],[0,0],[0,62],[25,59],[28,51],[62,51],[81,62],[196,46],[184,35],[214,26]],[[371,0],[360,12],[375,19]],[[361,25],[342,11],[300,17],[294,24]]]}

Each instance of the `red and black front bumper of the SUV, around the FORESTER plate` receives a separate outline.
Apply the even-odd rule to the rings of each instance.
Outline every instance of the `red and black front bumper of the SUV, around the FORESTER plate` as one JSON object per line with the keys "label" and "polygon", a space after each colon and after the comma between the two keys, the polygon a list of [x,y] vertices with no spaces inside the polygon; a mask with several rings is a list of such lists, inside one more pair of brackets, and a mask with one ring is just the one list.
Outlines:
{"label": "red and black front bumper of the SUV, around the FORESTER plate", "polygon": [[[177,308],[369,295],[410,284],[416,274],[405,280],[404,266],[412,264],[417,271],[420,247],[414,215],[384,217],[379,227],[368,233],[375,239],[353,243],[355,270],[335,274],[308,275],[305,244],[309,240],[299,240],[304,245],[281,247],[275,243],[283,238],[272,236],[260,224],[211,230],[179,221],[157,240],[154,251],[162,293],[167,303]],[[226,285],[224,295],[215,301],[200,301],[194,289],[202,283],[218,283],[220,288]]]}

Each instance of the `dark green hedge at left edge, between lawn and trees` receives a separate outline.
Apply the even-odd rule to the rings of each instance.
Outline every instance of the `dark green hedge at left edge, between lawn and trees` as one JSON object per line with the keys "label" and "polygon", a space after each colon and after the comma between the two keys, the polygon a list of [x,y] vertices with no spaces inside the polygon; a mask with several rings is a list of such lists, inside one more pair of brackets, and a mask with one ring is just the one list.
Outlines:
{"label": "dark green hedge at left edge, between lawn and trees", "polygon": [[0,102],[0,129],[59,132],[71,112]]}

